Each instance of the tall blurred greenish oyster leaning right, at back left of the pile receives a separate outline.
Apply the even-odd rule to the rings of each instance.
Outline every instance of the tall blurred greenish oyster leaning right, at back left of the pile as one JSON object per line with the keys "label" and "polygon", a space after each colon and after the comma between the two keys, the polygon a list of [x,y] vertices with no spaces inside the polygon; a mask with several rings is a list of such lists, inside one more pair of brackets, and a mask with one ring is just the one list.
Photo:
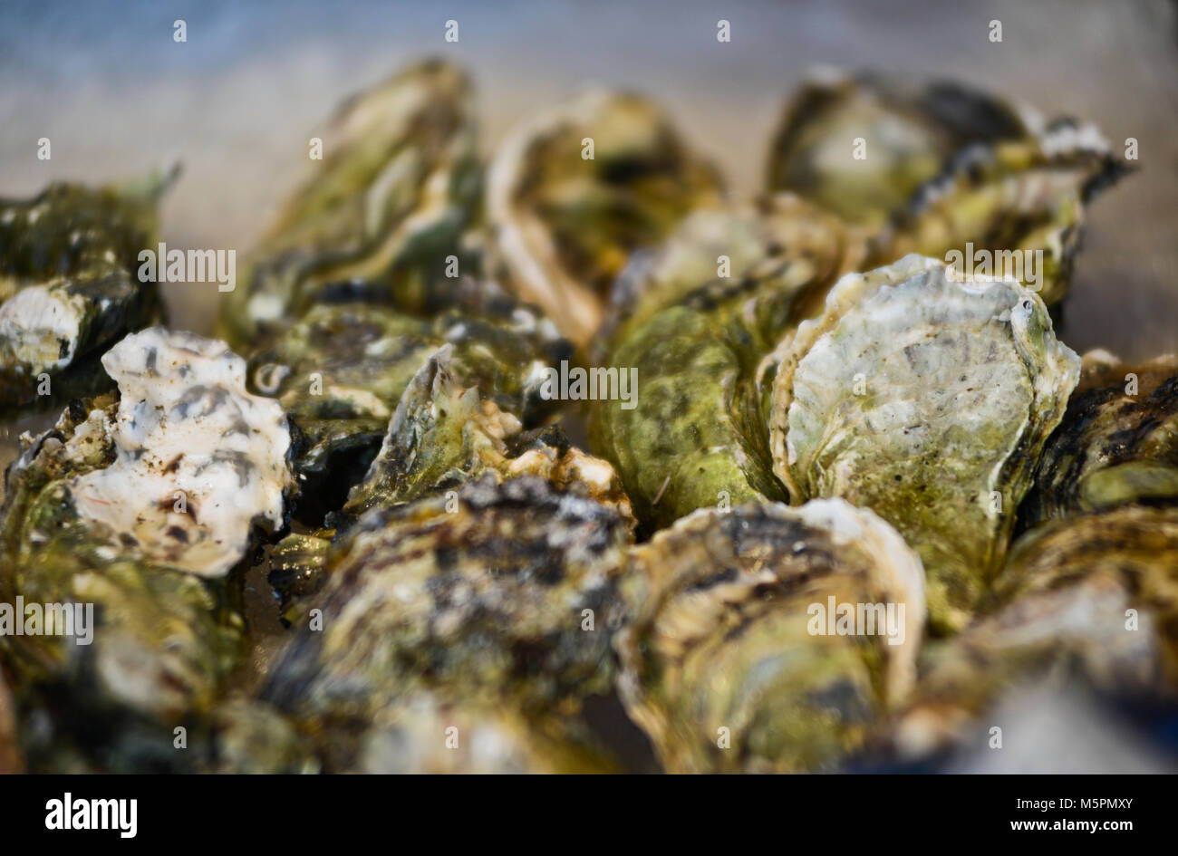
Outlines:
{"label": "tall blurred greenish oyster leaning right, at back left of the pile", "polygon": [[323,137],[325,157],[290,195],[229,294],[231,344],[280,330],[333,283],[369,280],[386,299],[424,300],[477,210],[470,81],[428,60],[350,99]]}

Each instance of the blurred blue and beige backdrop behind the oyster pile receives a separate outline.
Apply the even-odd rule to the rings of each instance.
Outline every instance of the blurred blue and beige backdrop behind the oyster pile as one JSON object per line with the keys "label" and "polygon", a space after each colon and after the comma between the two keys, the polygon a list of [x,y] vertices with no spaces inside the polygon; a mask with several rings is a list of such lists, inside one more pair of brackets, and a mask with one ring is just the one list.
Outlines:
{"label": "blurred blue and beige backdrop behind the oyster pile", "polygon": [[[716,21],[732,22],[732,42]],[[172,40],[184,19],[187,42]],[[459,41],[444,41],[445,21]],[[990,21],[1002,41],[988,40]],[[1139,142],[1140,171],[1090,208],[1063,338],[1126,359],[1178,350],[1178,12],[1167,0],[224,0],[0,5],[0,194],[126,178],[179,160],[174,247],[249,248],[346,95],[439,54],[474,75],[489,152],[590,84],[661,101],[760,190],[783,99],[810,66],[951,77]],[[52,140],[52,160],[37,141]],[[214,284],[165,285],[172,321],[211,329]]]}

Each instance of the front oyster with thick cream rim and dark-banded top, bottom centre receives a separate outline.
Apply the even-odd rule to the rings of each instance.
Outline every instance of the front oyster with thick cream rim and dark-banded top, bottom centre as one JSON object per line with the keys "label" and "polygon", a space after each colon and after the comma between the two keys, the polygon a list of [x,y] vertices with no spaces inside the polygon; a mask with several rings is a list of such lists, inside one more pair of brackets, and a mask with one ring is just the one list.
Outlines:
{"label": "front oyster with thick cream rim and dark-banded top, bottom centre", "polygon": [[[701,509],[631,560],[641,605],[618,636],[618,685],[668,771],[836,769],[915,677],[920,559],[871,511],[841,499]],[[880,624],[823,631],[828,602],[866,604]],[[894,619],[887,630],[873,604]]]}

